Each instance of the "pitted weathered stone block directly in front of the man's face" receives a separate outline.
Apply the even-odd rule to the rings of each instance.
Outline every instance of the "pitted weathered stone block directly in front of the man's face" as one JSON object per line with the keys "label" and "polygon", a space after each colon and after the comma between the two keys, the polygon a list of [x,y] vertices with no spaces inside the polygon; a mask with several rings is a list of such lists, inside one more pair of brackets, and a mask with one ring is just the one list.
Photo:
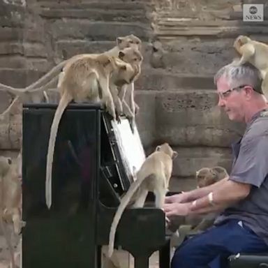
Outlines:
{"label": "pitted weathered stone block directly in front of the man's face", "polygon": [[216,105],[216,93],[177,91],[156,96],[156,139],[177,146],[230,147],[243,133]]}

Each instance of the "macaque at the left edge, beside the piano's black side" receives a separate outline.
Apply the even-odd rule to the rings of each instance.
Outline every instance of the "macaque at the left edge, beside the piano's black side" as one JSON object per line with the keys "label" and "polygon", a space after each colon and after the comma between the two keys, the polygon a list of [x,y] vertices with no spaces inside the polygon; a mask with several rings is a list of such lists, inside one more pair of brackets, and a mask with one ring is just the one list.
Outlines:
{"label": "macaque at the left edge, beside the piano's black side", "polygon": [[14,249],[4,221],[13,223],[15,234],[20,234],[24,223],[21,220],[22,186],[17,173],[17,165],[11,158],[0,156],[0,179],[0,224],[10,251],[11,267],[15,268]]}

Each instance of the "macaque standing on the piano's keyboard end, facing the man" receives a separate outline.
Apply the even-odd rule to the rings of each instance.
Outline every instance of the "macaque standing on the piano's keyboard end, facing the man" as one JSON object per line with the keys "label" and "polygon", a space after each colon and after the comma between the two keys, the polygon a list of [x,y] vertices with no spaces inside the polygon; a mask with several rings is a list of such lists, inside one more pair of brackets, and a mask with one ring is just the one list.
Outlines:
{"label": "macaque standing on the piano's keyboard end, facing the man", "polygon": [[135,195],[133,207],[138,208],[144,206],[148,192],[154,192],[156,196],[156,207],[163,209],[165,194],[168,191],[172,173],[172,160],[175,157],[177,157],[177,152],[173,151],[168,143],[161,144],[145,159],[140,170],[136,172],[136,179],[121,199],[121,203],[112,221],[107,254],[109,258],[112,257],[114,251],[114,237],[117,225],[133,195]]}

